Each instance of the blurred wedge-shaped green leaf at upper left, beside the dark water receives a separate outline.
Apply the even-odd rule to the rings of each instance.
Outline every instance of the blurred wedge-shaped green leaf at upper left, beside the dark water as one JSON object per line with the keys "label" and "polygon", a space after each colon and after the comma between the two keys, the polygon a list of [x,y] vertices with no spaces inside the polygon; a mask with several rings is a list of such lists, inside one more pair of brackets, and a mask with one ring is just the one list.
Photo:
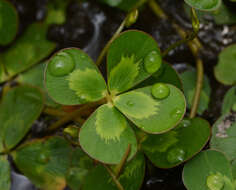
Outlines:
{"label": "blurred wedge-shaped green leaf at upper left, beside the dark water", "polygon": [[8,51],[0,54],[0,64],[5,66],[8,77],[30,68],[55,49],[55,43],[46,38],[47,28],[41,23],[30,25]]}

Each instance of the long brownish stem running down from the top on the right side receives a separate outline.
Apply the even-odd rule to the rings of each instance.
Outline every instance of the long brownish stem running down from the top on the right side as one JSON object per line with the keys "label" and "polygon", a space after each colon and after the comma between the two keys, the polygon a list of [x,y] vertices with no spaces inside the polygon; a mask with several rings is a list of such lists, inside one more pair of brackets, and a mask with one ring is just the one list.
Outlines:
{"label": "long brownish stem running down from the top on the right side", "polygon": [[[161,9],[161,7],[157,4],[157,2],[155,0],[149,0],[149,7],[151,8],[151,10],[154,12],[154,14],[158,18],[168,19],[168,16],[165,14],[165,12]],[[195,13],[193,12],[193,14],[195,14]],[[193,16],[196,16],[196,15],[193,15]],[[199,58],[199,49],[202,48],[202,45],[201,45],[200,41],[198,40],[198,38],[196,38],[196,36],[192,36],[192,38],[194,37],[194,39],[190,38],[191,40],[188,40],[186,42],[185,39],[187,38],[187,33],[184,31],[184,29],[182,29],[179,25],[177,25],[173,21],[172,21],[172,25],[175,28],[175,30],[178,32],[178,34],[181,36],[181,38],[182,38],[181,41],[187,43],[189,49],[191,50],[191,52],[196,60],[197,82],[196,82],[196,90],[194,93],[192,108],[190,111],[190,118],[194,118],[197,114],[197,108],[198,108],[199,101],[200,101],[200,94],[201,94],[201,90],[202,90],[202,83],[203,83],[203,76],[204,76],[203,62]],[[195,28],[194,32],[196,33],[197,31],[198,31],[198,29]],[[176,46],[173,45],[173,48],[175,48],[175,47]],[[166,53],[164,52],[164,54],[167,55],[167,52]]]}

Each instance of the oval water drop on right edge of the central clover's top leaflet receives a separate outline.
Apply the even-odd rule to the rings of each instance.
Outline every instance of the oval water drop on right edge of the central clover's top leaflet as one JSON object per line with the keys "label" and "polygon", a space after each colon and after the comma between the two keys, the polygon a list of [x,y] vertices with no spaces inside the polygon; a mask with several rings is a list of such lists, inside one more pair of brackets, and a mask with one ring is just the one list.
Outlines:
{"label": "oval water drop on right edge of the central clover's top leaflet", "polygon": [[149,73],[155,73],[161,67],[161,55],[157,51],[151,51],[144,59],[144,68]]}

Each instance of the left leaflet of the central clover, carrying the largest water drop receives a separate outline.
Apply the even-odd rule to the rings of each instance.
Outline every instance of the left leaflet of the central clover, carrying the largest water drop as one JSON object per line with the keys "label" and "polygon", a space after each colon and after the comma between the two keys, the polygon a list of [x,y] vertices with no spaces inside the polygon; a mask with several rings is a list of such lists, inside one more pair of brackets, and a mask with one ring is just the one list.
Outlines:
{"label": "left leaflet of the central clover, carrying the largest water drop", "polygon": [[[70,62],[73,61],[75,68],[67,75],[54,76],[49,68],[51,64],[61,61],[58,59],[61,53],[67,55],[63,58],[65,64],[71,64]],[[81,76],[78,76],[80,74]],[[49,60],[45,83],[49,96],[57,103],[64,105],[78,105],[98,100],[104,96],[106,88],[105,81],[91,58],[76,48],[61,50]]]}

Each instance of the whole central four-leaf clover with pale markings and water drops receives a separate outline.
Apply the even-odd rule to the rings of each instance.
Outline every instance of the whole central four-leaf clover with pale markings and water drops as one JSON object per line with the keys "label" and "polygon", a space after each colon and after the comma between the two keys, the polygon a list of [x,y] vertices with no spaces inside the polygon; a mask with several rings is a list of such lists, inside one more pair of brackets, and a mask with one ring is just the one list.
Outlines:
{"label": "whole central four-leaf clover with pale markings and water drops", "polygon": [[92,158],[118,164],[129,145],[128,160],[137,152],[130,122],[146,133],[160,134],[176,126],[185,113],[184,96],[175,86],[157,83],[135,88],[161,65],[155,40],[131,30],[116,38],[108,50],[107,83],[88,55],[69,48],[49,60],[45,84],[57,103],[100,105],[80,129],[79,143]]}

